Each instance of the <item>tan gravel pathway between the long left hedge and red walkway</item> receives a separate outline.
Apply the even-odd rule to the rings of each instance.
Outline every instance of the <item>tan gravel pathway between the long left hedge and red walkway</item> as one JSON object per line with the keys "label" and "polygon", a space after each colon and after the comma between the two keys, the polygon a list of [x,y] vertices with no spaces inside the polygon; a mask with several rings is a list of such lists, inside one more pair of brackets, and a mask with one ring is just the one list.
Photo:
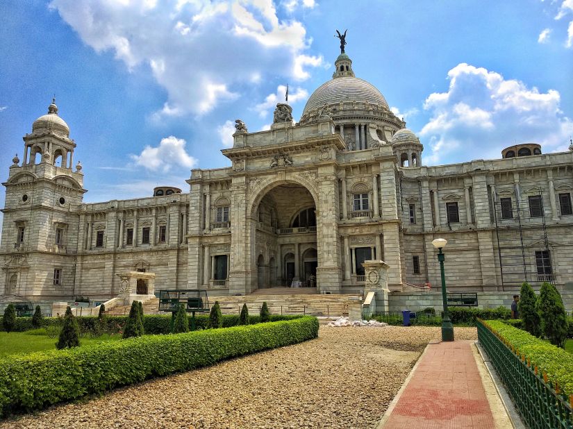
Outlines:
{"label": "tan gravel pathway between the long left hedge and red walkway", "polygon": [[[476,339],[475,328],[455,328]],[[319,338],[52,407],[0,428],[373,428],[440,328],[321,327]]]}

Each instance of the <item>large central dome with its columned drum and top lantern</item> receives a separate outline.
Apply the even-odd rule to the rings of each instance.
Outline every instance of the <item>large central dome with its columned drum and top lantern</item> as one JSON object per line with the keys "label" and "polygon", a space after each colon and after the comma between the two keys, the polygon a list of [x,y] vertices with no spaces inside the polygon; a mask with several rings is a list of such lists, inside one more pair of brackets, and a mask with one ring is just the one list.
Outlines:
{"label": "large central dome with its columned drum and top lantern", "polygon": [[336,132],[349,151],[387,144],[396,131],[406,126],[390,111],[388,102],[374,85],[356,77],[346,53],[336,58],[332,79],[310,95],[299,124],[316,123],[324,110],[329,110]]}

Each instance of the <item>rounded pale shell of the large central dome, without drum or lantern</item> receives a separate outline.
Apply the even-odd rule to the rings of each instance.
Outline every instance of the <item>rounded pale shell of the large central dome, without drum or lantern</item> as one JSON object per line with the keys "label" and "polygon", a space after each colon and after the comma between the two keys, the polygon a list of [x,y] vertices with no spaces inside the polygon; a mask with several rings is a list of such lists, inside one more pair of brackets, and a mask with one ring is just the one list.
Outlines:
{"label": "rounded pale shell of the large central dome, without drum or lantern", "polygon": [[362,103],[367,101],[371,104],[382,105],[383,108],[390,110],[386,99],[372,83],[353,76],[340,76],[320,85],[306,102],[302,114],[304,116],[310,110],[322,108],[326,103],[334,104],[340,103],[340,101],[360,101]]}

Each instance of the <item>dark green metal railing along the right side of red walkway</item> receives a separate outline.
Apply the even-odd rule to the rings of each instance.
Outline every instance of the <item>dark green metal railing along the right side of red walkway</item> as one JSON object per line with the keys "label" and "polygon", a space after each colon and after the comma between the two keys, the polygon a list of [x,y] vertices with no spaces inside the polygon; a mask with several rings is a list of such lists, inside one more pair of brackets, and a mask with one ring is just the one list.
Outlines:
{"label": "dark green metal railing along the right side of red walkway", "polygon": [[[559,392],[547,380],[547,374],[538,374],[538,368],[501,341],[482,321],[476,321],[479,344],[504,382],[504,386],[529,428],[573,428],[572,398]],[[533,368],[532,368],[533,367]]]}

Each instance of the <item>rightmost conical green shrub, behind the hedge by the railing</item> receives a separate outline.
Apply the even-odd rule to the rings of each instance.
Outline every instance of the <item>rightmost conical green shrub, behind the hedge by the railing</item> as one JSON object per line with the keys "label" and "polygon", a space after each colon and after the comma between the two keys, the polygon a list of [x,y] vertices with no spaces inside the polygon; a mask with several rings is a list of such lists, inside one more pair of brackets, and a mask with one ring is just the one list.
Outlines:
{"label": "rightmost conical green shrub, behind the hedge by the railing", "polygon": [[551,283],[541,285],[538,310],[542,334],[551,344],[563,348],[567,338],[567,314],[561,295]]}

